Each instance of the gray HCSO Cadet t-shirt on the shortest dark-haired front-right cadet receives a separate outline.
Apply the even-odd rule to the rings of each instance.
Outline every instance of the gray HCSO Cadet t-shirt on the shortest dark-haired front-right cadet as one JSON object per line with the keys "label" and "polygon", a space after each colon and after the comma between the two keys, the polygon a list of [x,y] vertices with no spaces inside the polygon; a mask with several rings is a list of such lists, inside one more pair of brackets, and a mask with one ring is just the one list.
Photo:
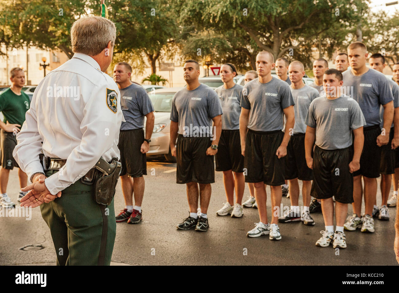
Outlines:
{"label": "gray HCSO Cadet t-shirt on the shortest dark-haired front-right cadet", "polygon": [[341,95],[330,100],[318,97],[310,103],[306,125],[316,128],[316,145],[324,150],[336,150],[352,145],[352,130],[366,125],[359,104]]}

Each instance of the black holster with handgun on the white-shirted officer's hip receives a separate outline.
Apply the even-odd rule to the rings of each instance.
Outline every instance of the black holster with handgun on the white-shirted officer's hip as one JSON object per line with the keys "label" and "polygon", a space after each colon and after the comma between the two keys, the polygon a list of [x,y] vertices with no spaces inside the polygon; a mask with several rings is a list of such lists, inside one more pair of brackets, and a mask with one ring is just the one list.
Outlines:
{"label": "black holster with handgun on the white-shirted officer's hip", "polygon": [[111,163],[108,163],[103,158],[97,161],[94,166],[94,201],[97,204],[109,206],[115,196],[115,188],[118,183],[118,178],[122,164],[117,158],[112,158]]}

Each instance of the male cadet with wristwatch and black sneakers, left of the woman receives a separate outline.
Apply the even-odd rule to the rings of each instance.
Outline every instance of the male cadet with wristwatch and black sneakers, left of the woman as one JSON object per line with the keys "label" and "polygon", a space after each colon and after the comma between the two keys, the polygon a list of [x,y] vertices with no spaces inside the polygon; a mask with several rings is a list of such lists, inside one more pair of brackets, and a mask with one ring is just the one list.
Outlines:
{"label": "male cadet with wristwatch and black sneakers, left of the woman", "polygon": [[199,83],[198,62],[187,60],[183,70],[187,86],[172,100],[170,152],[176,156],[176,183],[187,187],[190,215],[177,228],[207,231],[211,183],[215,182],[213,156],[217,153],[223,111],[217,93]]}

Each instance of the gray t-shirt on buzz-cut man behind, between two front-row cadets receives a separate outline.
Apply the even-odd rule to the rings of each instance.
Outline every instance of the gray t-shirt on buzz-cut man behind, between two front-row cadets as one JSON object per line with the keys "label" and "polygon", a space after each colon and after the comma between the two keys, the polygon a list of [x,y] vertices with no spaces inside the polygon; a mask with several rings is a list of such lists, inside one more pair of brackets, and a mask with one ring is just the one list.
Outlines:
{"label": "gray t-shirt on buzz-cut man behind, between two front-row cadets", "polygon": [[[290,87],[292,98],[294,99],[294,113],[295,113],[295,124],[292,134],[305,133],[306,124],[305,119],[308,115],[310,102],[319,97],[319,93],[313,87],[305,85],[301,89],[293,89]],[[285,131],[286,119],[284,116],[284,129]]]}

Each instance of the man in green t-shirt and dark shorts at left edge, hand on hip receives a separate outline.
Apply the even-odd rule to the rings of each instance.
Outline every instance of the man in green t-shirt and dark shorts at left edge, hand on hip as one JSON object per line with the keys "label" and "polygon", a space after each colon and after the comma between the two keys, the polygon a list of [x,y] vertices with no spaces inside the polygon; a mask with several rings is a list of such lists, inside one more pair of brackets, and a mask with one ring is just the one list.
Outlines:
{"label": "man in green t-shirt and dark shorts at left edge, hand on hip", "polygon": [[[12,152],[17,145],[16,135],[20,131],[25,121],[25,113],[29,109],[30,101],[26,93],[21,89],[25,85],[24,70],[14,67],[11,73],[11,87],[6,89],[0,95],[0,112],[4,120],[0,121],[0,204],[4,208],[13,207],[15,204],[7,195],[7,183],[10,170],[14,167],[19,168],[12,156]],[[26,186],[28,176],[21,170],[18,170],[20,187]],[[20,190],[18,201],[26,194]]]}

